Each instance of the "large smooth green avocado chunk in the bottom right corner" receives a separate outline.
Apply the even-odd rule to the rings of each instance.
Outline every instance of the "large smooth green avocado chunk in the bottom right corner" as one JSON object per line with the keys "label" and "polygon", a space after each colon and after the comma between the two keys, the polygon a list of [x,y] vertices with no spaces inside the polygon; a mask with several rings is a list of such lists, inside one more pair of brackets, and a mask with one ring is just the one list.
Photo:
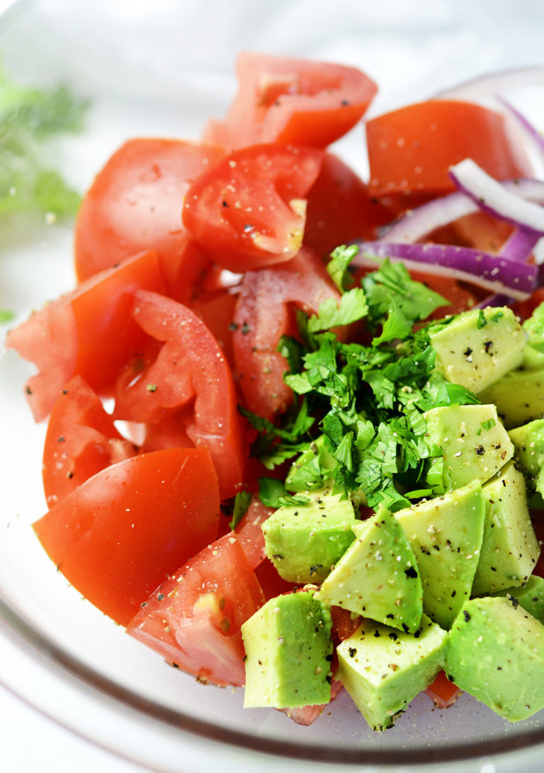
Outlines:
{"label": "large smooth green avocado chunk in the bottom right corner", "polygon": [[445,672],[511,722],[544,708],[544,625],[508,598],[467,601],[448,640]]}

